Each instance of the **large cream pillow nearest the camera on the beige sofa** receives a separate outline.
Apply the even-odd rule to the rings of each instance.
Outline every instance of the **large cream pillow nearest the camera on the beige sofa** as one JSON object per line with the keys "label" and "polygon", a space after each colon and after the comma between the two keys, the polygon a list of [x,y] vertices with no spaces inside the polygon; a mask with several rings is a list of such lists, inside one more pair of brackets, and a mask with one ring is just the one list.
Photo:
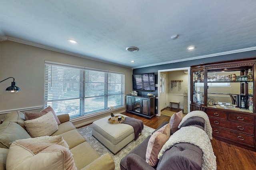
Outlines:
{"label": "large cream pillow nearest the camera on the beige sofa", "polygon": [[12,142],[6,169],[77,170],[72,153],[58,144]]}

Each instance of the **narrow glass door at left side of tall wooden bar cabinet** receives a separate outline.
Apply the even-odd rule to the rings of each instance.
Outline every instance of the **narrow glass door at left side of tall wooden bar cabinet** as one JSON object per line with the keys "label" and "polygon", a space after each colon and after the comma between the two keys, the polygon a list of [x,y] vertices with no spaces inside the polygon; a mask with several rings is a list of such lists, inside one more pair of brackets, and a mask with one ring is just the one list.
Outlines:
{"label": "narrow glass door at left side of tall wooden bar cabinet", "polygon": [[193,103],[204,104],[204,70],[192,71]]}

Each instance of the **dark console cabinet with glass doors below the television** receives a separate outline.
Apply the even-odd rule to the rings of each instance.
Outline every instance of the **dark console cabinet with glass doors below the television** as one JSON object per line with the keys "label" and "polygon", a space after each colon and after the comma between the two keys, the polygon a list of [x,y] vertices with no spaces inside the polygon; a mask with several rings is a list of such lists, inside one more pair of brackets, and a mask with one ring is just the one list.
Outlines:
{"label": "dark console cabinet with glass doors below the television", "polygon": [[156,97],[126,95],[126,112],[145,118],[152,118],[155,113]]}

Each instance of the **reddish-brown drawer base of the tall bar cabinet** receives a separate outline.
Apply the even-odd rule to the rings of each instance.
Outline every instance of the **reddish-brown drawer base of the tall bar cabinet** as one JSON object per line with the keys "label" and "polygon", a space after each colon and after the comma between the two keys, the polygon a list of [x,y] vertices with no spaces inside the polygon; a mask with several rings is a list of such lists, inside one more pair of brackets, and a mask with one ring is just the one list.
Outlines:
{"label": "reddish-brown drawer base of the tall bar cabinet", "polygon": [[218,140],[255,150],[255,116],[232,110],[206,109],[212,136]]}

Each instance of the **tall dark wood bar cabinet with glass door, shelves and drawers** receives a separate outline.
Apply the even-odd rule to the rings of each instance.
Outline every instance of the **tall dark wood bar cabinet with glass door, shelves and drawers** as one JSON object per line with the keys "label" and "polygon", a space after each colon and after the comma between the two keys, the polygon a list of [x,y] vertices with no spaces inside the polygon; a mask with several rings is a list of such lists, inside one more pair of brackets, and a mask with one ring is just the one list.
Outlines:
{"label": "tall dark wood bar cabinet with glass door, shelves and drawers", "polygon": [[256,58],[191,66],[190,110],[208,114],[217,140],[256,151],[255,84]]}

